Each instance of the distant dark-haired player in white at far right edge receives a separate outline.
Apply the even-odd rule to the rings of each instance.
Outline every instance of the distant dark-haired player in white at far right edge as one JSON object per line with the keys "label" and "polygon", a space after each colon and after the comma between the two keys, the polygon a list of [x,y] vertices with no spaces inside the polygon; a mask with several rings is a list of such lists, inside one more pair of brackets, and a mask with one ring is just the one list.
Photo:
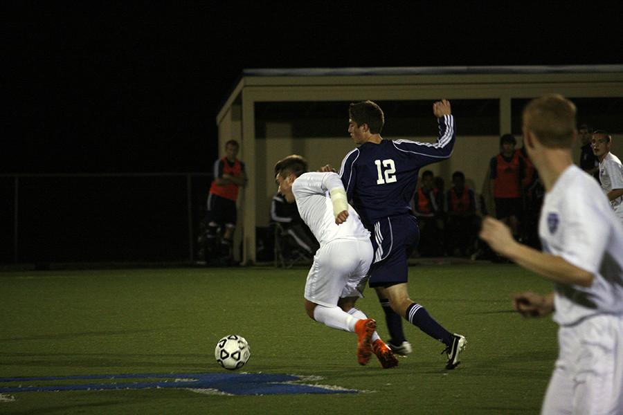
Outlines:
{"label": "distant dark-haired player in white at far right edge", "polygon": [[599,160],[599,183],[602,183],[602,190],[623,223],[623,165],[610,152],[611,145],[612,136],[606,131],[597,130],[593,133],[593,154]]}

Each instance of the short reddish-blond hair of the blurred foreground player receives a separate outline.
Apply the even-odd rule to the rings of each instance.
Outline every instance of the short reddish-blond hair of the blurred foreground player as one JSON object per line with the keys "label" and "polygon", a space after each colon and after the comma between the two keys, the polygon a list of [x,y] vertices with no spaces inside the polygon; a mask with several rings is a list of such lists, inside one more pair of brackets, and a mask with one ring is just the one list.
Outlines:
{"label": "short reddish-blond hair of the blurred foreground player", "polygon": [[545,147],[570,148],[576,134],[576,113],[575,104],[562,95],[543,95],[523,109],[523,127]]}

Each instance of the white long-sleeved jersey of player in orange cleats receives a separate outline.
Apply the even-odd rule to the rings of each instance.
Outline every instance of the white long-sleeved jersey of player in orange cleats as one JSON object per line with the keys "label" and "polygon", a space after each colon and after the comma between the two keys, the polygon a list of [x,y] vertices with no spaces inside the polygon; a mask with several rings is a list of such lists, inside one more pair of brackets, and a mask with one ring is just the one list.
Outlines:
{"label": "white long-sleeved jersey of player in orange cleats", "polygon": [[370,239],[370,232],[363,227],[359,214],[348,205],[348,219],[336,225],[329,191],[343,187],[336,173],[309,172],[301,174],[292,185],[292,192],[301,219],[318,239],[320,246],[335,239]]}

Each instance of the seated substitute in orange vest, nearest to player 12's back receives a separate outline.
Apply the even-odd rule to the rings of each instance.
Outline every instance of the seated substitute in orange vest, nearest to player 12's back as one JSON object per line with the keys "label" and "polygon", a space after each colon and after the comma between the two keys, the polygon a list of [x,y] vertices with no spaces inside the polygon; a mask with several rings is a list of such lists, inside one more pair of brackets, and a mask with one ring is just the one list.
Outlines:
{"label": "seated substitute in orange vest, nearest to player 12's back", "polygon": [[413,196],[413,214],[419,225],[419,254],[425,257],[444,255],[443,194],[434,185],[435,176],[431,170],[422,173],[422,186]]}

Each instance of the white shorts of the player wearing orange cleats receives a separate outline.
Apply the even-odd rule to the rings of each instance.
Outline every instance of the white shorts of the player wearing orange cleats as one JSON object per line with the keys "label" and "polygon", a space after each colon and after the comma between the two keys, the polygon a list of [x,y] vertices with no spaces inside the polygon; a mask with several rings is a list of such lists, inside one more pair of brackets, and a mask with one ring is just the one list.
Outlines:
{"label": "white shorts of the player wearing orange cleats", "polygon": [[334,307],[340,298],[363,297],[372,255],[368,239],[336,239],[320,246],[307,274],[305,299]]}

